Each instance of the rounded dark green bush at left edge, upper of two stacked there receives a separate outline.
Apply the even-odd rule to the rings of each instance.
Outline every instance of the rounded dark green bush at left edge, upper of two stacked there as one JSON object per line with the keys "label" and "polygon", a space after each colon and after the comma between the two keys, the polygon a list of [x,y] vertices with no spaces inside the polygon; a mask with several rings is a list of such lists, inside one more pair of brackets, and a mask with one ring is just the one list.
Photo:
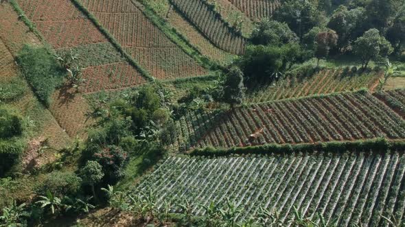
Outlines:
{"label": "rounded dark green bush at left edge, upper of two stacked there", "polygon": [[15,109],[0,107],[0,139],[7,139],[23,134],[23,119]]}

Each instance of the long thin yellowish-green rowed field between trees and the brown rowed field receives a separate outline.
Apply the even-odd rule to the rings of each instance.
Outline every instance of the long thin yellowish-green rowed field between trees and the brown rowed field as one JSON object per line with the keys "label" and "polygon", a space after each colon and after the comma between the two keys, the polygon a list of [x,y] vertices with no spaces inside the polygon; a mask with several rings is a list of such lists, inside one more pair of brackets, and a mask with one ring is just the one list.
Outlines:
{"label": "long thin yellowish-green rowed field between trees and the brown rowed field", "polygon": [[248,103],[262,103],[284,98],[310,96],[314,94],[330,94],[369,88],[373,90],[378,85],[378,72],[354,73],[343,69],[324,69],[313,75],[288,76],[276,83],[256,87],[256,92],[248,94]]}

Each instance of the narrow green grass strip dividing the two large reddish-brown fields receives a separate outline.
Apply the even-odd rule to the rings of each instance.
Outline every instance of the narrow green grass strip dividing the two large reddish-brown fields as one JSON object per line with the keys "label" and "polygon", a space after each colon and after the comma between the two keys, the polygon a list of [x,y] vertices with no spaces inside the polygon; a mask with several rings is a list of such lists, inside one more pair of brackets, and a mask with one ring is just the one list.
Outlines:
{"label": "narrow green grass strip dividing the two large reddish-brown fields", "polygon": [[138,64],[138,62],[135,61],[135,59],[131,56],[128,55],[128,53],[126,53],[126,51],[124,51],[124,48],[122,48],[121,44],[119,44],[119,42],[117,40],[115,40],[114,36],[112,34],[110,34],[109,31],[107,31],[107,29],[105,29],[100,21],[98,21],[97,18],[95,18],[95,16],[93,16],[93,14],[91,14],[91,12],[89,10],[87,10],[86,7],[84,7],[84,5],[82,3],[80,3],[79,0],[71,0],[73,2],[74,5],[76,5],[76,7],[83,12],[84,15],[86,15],[90,21],[95,25],[95,27],[97,27],[97,29],[99,29],[102,34],[104,36],[106,36],[106,38],[108,39],[108,41],[110,41],[115,48],[119,51],[119,53],[121,53],[126,60],[132,65],[134,66],[139,72],[141,72],[141,75],[143,77],[145,77],[146,79],[148,79],[149,81],[153,81],[153,77],[149,75],[149,72],[146,71],[144,68],[142,68],[141,65]]}

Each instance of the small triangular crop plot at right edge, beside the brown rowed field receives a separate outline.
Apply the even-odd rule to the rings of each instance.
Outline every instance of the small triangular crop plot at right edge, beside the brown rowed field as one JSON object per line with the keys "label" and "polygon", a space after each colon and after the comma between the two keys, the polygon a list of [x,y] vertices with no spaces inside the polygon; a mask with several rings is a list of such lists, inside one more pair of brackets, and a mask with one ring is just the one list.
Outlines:
{"label": "small triangular crop plot at right edge, beside the brown rowed field", "polygon": [[380,98],[381,101],[389,105],[402,117],[405,117],[405,90],[391,90],[382,91],[374,94],[375,97]]}

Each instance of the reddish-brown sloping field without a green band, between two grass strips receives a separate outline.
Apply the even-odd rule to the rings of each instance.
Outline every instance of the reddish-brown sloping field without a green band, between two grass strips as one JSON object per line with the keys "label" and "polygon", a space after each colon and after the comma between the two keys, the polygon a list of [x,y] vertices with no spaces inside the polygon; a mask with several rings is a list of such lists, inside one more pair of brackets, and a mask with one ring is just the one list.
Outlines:
{"label": "reddish-brown sloping field without a green band, between two grass strips", "polygon": [[204,75],[207,71],[165,36],[131,1],[83,0],[106,29],[157,79]]}

